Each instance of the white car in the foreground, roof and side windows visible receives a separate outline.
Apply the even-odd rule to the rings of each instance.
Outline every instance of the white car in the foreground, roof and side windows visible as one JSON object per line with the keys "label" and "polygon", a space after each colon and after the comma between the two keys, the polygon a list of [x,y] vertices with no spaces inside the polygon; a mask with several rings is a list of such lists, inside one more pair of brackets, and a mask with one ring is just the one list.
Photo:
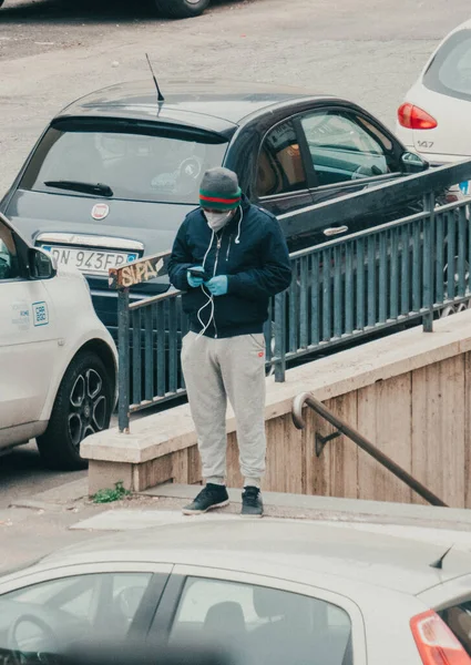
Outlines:
{"label": "white car in the foreground, roof and side windows visible", "polygon": [[447,550],[216,515],[95,538],[0,579],[0,661],[114,635],[222,641],[244,665],[470,665],[471,559]]}

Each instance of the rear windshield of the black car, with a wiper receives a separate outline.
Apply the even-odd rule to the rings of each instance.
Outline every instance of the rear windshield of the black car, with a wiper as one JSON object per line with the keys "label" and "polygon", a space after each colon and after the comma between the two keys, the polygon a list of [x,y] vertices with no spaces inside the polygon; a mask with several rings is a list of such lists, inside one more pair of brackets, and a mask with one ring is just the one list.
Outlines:
{"label": "rear windshield of the black car, with a wiper", "polygon": [[113,198],[197,204],[203,173],[222,165],[226,147],[216,134],[173,127],[141,133],[52,126],[20,187],[86,196],[51,183],[100,183],[111,188]]}

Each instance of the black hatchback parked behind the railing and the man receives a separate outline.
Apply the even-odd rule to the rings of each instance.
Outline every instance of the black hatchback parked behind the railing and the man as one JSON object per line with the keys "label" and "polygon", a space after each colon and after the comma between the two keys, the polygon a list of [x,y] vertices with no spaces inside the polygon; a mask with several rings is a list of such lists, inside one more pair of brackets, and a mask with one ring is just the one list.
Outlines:
{"label": "black hatchback parked behind the railing and the man", "polygon": [[[306,208],[315,203],[428,167],[356,104],[297,90],[193,84],[163,91],[124,83],[90,94],[57,115],[28,157],[0,211],[88,276],[95,308],[113,331],[115,293],[107,269],[171,248],[186,213],[198,203],[206,168],[237,172],[254,203],[281,222],[290,250],[350,234],[417,209],[354,224],[326,225]],[[291,221],[293,222],[293,221]],[[303,232],[299,232],[299,227]],[[132,298],[162,293],[164,278]]]}

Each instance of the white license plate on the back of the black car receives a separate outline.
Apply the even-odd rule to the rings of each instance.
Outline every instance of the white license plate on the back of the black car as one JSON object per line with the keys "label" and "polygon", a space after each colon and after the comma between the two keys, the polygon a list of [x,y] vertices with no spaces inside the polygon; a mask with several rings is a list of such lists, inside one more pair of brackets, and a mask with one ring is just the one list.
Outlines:
{"label": "white license plate on the back of the black car", "polygon": [[42,245],[42,249],[52,254],[59,265],[74,266],[90,275],[107,275],[110,268],[119,268],[137,258],[137,254],[127,252],[101,252],[78,247]]}

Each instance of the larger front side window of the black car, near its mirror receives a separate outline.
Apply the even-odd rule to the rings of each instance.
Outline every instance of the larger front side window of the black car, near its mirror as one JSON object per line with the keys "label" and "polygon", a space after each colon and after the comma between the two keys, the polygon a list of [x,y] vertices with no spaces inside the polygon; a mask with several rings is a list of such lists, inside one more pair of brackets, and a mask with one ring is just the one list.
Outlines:
{"label": "larger front side window of the black car, near its mirror", "polygon": [[364,119],[336,110],[301,119],[319,186],[392,171],[392,144]]}

